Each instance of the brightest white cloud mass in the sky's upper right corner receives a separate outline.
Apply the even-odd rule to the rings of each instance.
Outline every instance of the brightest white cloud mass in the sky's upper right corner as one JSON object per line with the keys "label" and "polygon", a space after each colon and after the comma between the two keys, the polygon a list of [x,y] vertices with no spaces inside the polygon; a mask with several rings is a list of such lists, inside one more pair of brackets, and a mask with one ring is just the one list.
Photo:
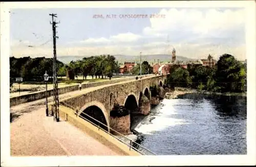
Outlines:
{"label": "brightest white cloud mass in the sky's upper right corner", "polygon": [[205,13],[196,9],[162,9],[159,14],[165,15],[165,18],[151,18],[151,27],[144,28],[144,34],[188,31],[212,35],[214,31],[228,31],[245,23],[243,9],[234,11],[210,9]]}

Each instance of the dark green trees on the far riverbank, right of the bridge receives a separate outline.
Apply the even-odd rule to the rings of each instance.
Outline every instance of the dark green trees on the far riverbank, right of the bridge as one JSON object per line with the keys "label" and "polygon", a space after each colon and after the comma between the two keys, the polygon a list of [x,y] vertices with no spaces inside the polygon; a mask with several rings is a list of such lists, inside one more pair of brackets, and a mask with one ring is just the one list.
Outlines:
{"label": "dark green trees on the far riverbank, right of the bridge", "polygon": [[187,69],[178,65],[170,67],[167,84],[215,92],[246,91],[246,63],[232,55],[224,54],[214,67],[191,65]]}

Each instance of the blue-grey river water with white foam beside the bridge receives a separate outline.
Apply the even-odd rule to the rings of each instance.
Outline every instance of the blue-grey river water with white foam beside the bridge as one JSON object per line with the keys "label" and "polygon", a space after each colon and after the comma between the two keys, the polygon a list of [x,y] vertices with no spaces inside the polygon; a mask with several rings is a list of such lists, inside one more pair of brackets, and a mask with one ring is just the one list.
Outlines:
{"label": "blue-grey river water with white foam beside the bridge", "polygon": [[157,155],[246,154],[246,97],[164,99],[135,131],[137,142]]}

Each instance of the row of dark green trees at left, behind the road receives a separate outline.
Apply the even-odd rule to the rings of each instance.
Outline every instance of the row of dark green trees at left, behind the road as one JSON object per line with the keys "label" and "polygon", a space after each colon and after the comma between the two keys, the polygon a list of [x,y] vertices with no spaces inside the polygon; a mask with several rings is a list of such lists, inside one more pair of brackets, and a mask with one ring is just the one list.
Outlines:
{"label": "row of dark green trees at left, behind the road", "polygon": [[[81,75],[83,79],[87,76],[103,78],[103,76],[111,77],[113,73],[118,73],[119,66],[114,56],[100,55],[84,57],[82,60],[71,61],[64,64],[56,61],[56,71],[58,77],[69,75],[70,79]],[[45,71],[52,77],[53,75],[53,58],[15,58],[10,57],[10,78],[23,77],[24,80],[42,80]]]}

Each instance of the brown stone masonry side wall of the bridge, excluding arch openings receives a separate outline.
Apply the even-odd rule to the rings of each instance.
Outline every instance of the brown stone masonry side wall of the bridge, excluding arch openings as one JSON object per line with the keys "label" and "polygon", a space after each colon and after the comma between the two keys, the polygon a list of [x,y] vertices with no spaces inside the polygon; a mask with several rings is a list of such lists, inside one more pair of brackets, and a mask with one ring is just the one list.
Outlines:
{"label": "brown stone masonry side wall of the bridge, excluding arch openings", "polygon": [[[90,106],[97,106],[101,109],[102,113],[104,114],[108,127],[114,127],[113,129],[118,129],[122,133],[130,133],[129,131],[127,131],[127,126],[129,126],[130,129],[130,117],[110,117],[110,111],[113,109],[114,104],[124,106],[127,98],[132,95],[136,99],[135,103],[137,103],[140,112],[143,114],[148,114],[150,112],[150,102],[152,103],[154,101],[159,101],[159,98],[157,98],[158,100],[156,100],[155,97],[150,97],[150,101],[150,99],[143,96],[144,101],[139,103],[140,94],[144,94],[146,89],[148,92],[150,92],[151,86],[157,86],[158,88],[161,87],[159,86],[159,84],[164,83],[165,80],[166,75],[157,75],[152,77],[144,77],[142,78],[142,80],[125,81],[121,83],[112,84],[110,86],[106,86],[103,88],[99,88],[97,90],[93,90],[85,94],[72,97],[70,99],[63,100],[63,102],[74,108],[77,108],[78,114],[80,114]],[[148,101],[145,100],[145,98]],[[124,120],[129,123],[124,123]],[[115,126],[126,127],[119,129]]]}

